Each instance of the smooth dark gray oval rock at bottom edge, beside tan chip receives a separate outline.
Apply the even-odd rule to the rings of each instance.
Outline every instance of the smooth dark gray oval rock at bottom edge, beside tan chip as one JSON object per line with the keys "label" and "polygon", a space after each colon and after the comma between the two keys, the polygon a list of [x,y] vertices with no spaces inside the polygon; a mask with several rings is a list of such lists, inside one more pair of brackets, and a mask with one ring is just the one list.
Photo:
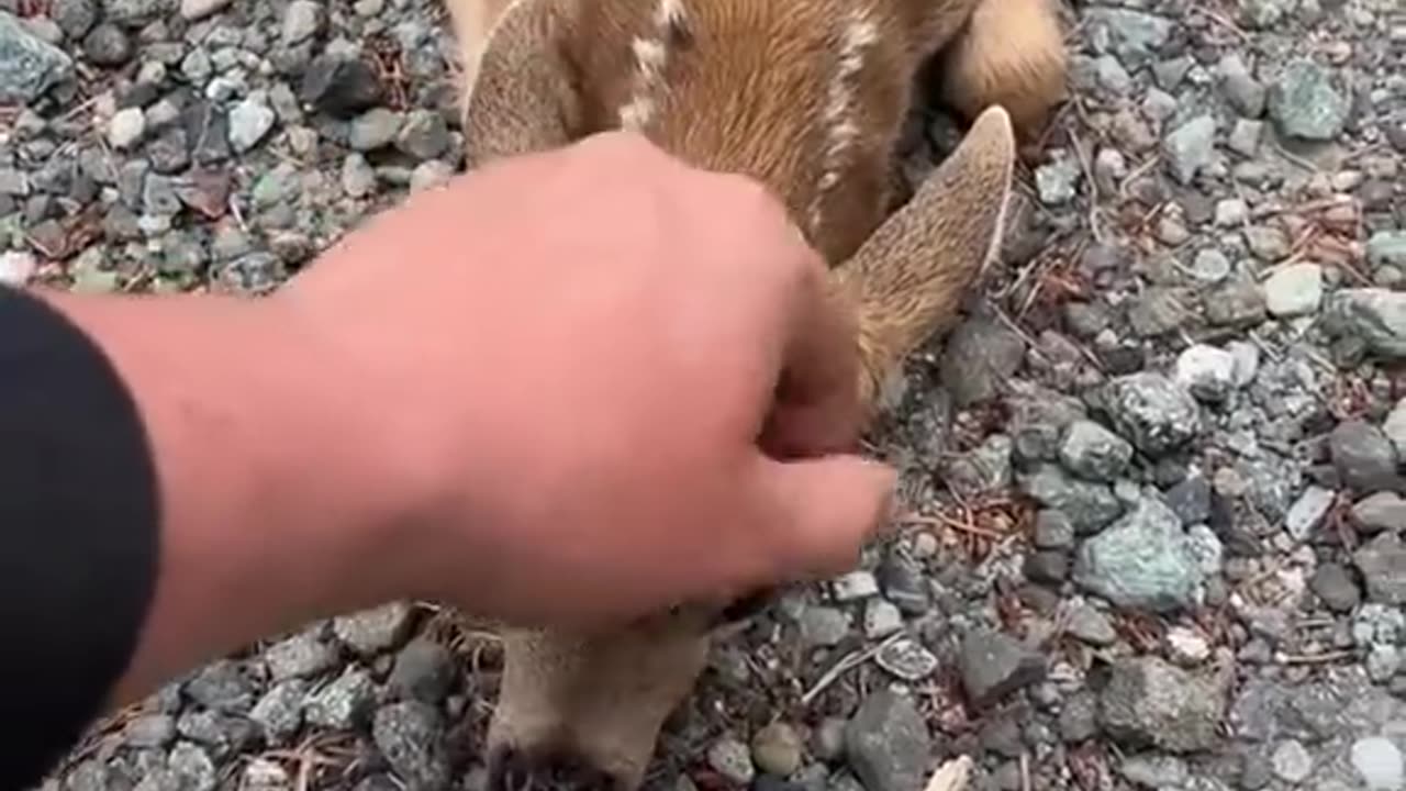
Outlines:
{"label": "smooth dark gray oval rock at bottom edge, beside tan chip", "polygon": [[845,757],[866,791],[912,791],[927,778],[932,736],[912,700],[872,692],[845,725]]}

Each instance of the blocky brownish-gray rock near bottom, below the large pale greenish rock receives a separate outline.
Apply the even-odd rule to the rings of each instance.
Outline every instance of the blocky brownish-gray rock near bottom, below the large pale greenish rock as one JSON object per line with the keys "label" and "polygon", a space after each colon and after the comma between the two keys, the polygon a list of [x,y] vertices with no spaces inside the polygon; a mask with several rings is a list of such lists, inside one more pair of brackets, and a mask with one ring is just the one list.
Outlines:
{"label": "blocky brownish-gray rock near bottom, below the large pale greenish rock", "polygon": [[1112,664],[1099,695],[1099,722],[1128,746],[1170,753],[1208,750],[1225,716],[1229,674],[1192,674],[1154,656]]}

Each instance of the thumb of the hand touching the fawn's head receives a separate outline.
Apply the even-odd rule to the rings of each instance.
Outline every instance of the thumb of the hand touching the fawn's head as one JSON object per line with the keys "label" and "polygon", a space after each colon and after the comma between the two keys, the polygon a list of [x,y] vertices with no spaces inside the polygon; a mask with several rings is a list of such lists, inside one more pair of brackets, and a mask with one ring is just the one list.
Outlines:
{"label": "thumb of the hand touching the fawn's head", "polygon": [[897,473],[860,456],[776,462],[763,470],[772,556],[789,578],[849,571],[887,524]]}

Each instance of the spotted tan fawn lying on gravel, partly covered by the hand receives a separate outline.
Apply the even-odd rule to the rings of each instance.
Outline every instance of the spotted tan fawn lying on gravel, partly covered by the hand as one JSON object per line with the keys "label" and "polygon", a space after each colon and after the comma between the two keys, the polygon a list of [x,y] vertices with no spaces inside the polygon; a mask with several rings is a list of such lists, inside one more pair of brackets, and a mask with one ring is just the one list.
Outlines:
{"label": "spotted tan fawn lying on gravel, partly covered by the hand", "polygon": [[[484,3],[501,3],[446,1],[471,20],[456,30],[472,30]],[[516,0],[491,25],[472,70],[467,163],[631,128],[696,166],[759,180],[834,267],[835,294],[856,311],[865,372],[856,387],[873,405],[904,356],[948,328],[995,253],[1015,159],[1012,115],[1035,118],[1062,94],[1063,56],[1036,52],[1062,48],[1040,1]],[[1021,37],[997,37],[991,20],[1028,24],[1032,52],[1004,52]],[[974,122],[886,220],[912,80],[943,49],[980,77],[948,87]],[[1028,62],[1050,70],[1029,75]],[[987,108],[983,97],[1015,111]],[[665,716],[703,667],[707,626],[724,604],[693,602],[592,636],[503,629],[492,788],[523,781],[503,768],[509,752],[527,756],[531,771],[567,756],[621,791],[637,787]]]}

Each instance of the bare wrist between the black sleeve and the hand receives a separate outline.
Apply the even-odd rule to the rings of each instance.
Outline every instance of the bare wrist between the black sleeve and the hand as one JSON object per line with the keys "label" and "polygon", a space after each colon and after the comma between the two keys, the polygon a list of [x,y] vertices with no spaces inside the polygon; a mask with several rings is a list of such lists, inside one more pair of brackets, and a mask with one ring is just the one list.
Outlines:
{"label": "bare wrist between the black sleeve and the hand", "polygon": [[157,474],[156,597],[120,700],[394,595],[388,552],[413,497],[394,477],[387,415],[335,345],[267,298],[49,301],[117,367]]}

